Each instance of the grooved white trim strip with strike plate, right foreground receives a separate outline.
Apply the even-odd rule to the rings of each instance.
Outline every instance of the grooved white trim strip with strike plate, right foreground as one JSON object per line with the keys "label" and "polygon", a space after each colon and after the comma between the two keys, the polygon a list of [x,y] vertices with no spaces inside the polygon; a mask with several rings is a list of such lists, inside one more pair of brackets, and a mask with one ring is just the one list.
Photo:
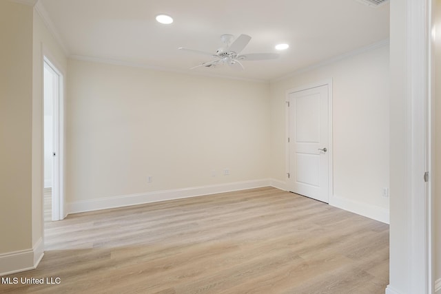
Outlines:
{"label": "grooved white trim strip with strike plate, right foreground", "polygon": [[[407,87],[410,280],[412,293],[433,293],[431,176],[431,0],[407,0]],[[409,198],[408,198],[409,197]],[[424,292],[422,292],[424,290]]]}

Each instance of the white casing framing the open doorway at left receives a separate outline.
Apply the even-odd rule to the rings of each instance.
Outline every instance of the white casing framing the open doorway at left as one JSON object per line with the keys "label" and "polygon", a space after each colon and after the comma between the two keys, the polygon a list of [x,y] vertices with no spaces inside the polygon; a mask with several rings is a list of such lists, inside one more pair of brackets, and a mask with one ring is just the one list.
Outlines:
{"label": "white casing framing the open doorway at left", "polygon": [[[54,158],[52,164],[52,220],[63,220],[65,218],[65,200],[64,200],[64,94],[65,94],[65,78],[63,72],[59,70],[60,67],[52,62],[48,54],[43,54],[43,105],[44,105],[44,67],[47,64],[58,76],[59,87],[58,99],[53,103],[53,142],[54,151],[57,156]],[[44,132],[43,132],[44,142]],[[44,152],[44,148],[43,148]],[[44,186],[44,185],[43,185]],[[42,212],[44,216],[44,211]]]}

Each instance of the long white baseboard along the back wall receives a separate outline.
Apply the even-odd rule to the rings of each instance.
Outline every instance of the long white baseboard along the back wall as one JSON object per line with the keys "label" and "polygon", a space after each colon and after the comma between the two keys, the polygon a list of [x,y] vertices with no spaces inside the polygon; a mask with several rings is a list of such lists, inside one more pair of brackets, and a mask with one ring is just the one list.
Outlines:
{"label": "long white baseboard along the back wall", "polygon": [[115,196],[108,198],[98,198],[93,200],[82,200],[68,203],[68,213],[79,213],[85,211],[95,211],[101,209],[111,209],[116,207],[127,207],[137,204],[174,200],[196,196],[204,196],[216,193],[240,191],[268,187],[271,180],[250,180],[245,182],[230,182],[221,185],[210,185],[202,187],[191,187],[184,189],[163,190],[147,193],[131,194],[125,196]]}

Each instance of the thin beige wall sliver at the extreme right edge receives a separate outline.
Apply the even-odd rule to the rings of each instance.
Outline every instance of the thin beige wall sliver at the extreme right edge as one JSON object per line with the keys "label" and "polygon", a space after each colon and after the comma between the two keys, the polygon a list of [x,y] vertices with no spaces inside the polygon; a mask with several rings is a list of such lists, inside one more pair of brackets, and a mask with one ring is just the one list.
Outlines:
{"label": "thin beige wall sliver at the extreme right edge", "polygon": [[434,278],[441,279],[441,1],[434,1],[435,9],[433,24],[436,28],[436,38],[433,42],[433,87],[432,98],[432,197],[433,216],[435,224],[433,227],[434,239]]}

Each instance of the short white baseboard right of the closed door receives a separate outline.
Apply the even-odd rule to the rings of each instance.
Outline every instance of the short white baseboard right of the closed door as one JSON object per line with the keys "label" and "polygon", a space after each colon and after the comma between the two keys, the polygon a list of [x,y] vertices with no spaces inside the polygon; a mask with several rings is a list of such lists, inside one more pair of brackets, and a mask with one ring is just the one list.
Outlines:
{"label": "short white baseboard right of the closed door", "polygon": [[381,207],[376,207],[374,205],[357,202],[346,198],[340,198],[335,195],[329,199],[329,205],[357,213],[360,216],[365,216],[373,220],[378,220],[379,222],[384,222],[385,224],[389,224],[389,210]]}

